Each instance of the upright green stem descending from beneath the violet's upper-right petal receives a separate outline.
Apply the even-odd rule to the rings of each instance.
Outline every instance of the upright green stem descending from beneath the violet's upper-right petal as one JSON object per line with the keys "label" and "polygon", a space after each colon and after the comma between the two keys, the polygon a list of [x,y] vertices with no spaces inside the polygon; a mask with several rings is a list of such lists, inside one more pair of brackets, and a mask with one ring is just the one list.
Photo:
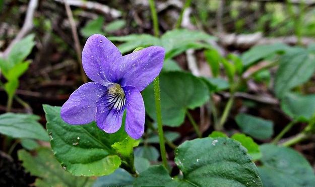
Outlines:
{"label": "upright green stem descending from beneath the violet's upper-right petal", "polygon": [[155,78],[155,80],[153,81],[153,85],[154,85],[154,100],[155,100],[156,118],[157,118],[158,134],[159,134],[159,141],[160,141],[160,152],[161,152],[163,165],[165,168],[168,168],[167,159],[166,159],[165,143],[164,143],[163,124],[162,124],[159,77]]}

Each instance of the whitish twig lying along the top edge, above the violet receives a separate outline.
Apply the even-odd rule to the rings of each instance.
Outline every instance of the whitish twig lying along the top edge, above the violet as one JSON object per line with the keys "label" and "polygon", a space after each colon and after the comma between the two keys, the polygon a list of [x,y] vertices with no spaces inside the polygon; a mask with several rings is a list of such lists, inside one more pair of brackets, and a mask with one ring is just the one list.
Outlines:
{"label": "whitish twig lying along the top edge, above the violet", "polygon": [[102,5],[100,3],[96,2],[90,2],[90,1],[82,1],[82,0],[54,0],[55,2],[59,3],[65,3],[67,2],[71,6],[76,6],[76,7],[81,7],[85,9],[90,9],[90,10],[96,10],[99,11],[103,14],[110,14],[112,18],[119,18],[121,16],[121,12],[110,8],[106,5]]}

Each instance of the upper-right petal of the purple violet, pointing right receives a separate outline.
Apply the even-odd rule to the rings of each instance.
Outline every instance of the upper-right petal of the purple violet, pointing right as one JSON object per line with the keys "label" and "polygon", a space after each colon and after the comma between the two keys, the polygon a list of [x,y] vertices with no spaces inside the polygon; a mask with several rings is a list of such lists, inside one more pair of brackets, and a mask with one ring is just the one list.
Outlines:
{"label": "upper-right petal of the purple violet, pointing right", "polygon": [[110,67],[110,79],[122,87],[134,86],[142,91],[159,75],[164,56],[164,48],[158,46],[122,56]]}

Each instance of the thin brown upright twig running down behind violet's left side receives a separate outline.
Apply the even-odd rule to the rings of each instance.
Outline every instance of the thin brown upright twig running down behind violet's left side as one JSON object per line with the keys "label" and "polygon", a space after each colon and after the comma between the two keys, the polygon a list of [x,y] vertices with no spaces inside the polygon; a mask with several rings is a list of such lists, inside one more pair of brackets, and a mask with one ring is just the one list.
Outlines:
{"label": "thin brown upright twig running down behind violet's left side", "polygon": [[79,41],[79,36],[78,36],[78,32],[77,32],[77,28],[76,28],[76,23],[75,20],[73,19],[73,15],[72,15],[72,11],[70,9],[70,5],[68,4],[67,0],[64,0],[65,3],[65,8],[66,8],[66,12],[70,21],[70,25],[71,25],[71,30],[72,30],[72,35],[73,35],[73,39],[75,40],[75,49],[76,49],[76,53],[77,53],[77,58],[79,61],[79,66],[80,66],[80,70],[81,70],[81,78],[83,82],[88,82],[88,79],[84,73],[83,70],[83,66],[81,65],[82,62],[82,58],[81,58],[81,45],[80,45],[80,41]]}

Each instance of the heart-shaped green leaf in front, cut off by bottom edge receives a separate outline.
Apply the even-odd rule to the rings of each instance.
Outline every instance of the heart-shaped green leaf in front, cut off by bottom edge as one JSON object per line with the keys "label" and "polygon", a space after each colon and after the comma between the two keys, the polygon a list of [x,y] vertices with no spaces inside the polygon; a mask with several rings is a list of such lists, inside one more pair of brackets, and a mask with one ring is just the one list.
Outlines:
{"label": "heart-shaped green leaf in front, cut off by bottom edge", "polygon": [[134,186],[262,186],[245,149],[229,138],[186,141],[175,150],[183,178],[171,178],[163,166],[140,173]]}

